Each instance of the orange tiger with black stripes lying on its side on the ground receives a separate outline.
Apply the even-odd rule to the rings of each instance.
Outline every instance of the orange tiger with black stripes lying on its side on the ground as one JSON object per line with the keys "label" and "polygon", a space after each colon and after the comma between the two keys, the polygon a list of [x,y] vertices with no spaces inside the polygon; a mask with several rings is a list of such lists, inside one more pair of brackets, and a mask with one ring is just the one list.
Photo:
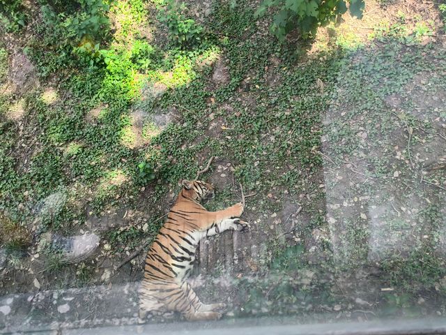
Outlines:
{"label": "orange tiger with black stripes lying on its side on the ground", "polygon": [[247,222],[239,217],[241,202],[221,211],[207,211],[200,202],[214,198],[212,184],[199,180],[181,181],[174,206],[146,255],[144,278],[139,288],[139,321],[148,312],[176,311],[186,320],[216,320],[226,304],[203,304],[187,283],[195,251],[203,237],[225,230],[243,230]]}

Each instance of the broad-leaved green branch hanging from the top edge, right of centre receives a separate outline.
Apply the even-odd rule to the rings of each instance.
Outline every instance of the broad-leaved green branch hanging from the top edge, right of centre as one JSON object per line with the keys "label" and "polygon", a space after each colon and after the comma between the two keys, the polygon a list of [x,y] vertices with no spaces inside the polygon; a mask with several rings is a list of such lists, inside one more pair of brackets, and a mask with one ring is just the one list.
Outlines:
{"label": "broad-leaved green branch hanging from the top edge, right of centre", "polygon": [[[339,15],[346,13],[345,0],[264,0],[254,14],[262,17],[274,8],[276,13],[270,25],[270,31],[279,40],[293,29],[299,29],[304,38],[316,36],[319,26],[334,21]],[[350,0],[351,15],[362,18],[364,0]]]}

